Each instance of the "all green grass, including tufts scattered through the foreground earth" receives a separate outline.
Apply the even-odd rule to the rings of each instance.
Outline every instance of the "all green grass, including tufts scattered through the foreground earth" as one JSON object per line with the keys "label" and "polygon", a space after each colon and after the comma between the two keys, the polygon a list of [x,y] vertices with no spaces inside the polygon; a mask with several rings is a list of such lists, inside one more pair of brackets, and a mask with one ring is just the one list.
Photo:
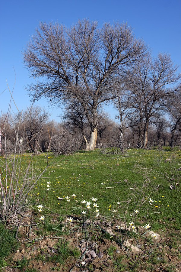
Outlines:
{"label": "all green grass, including tufts scattered through the foreground earth", "polygon": [[[26,168],[29,157],[29,154],[24,154],[23,164],[21,165],[22,172]],[[42,224],[38,225],[39,227],[34,231],[37,236],[41,235],[42,237],[43,235],[52,235],[52,233],[54,236],[64,236],[75,231],[79,232],[79,228],[75,226],[70,230],[71,225],[68,222],[65,225],[65,221],[69,217],[77,222],[81,221],[84,218],[81,212],[87,210],[85,204],[81,201],[90,201],[93,205],[94,202],[91,198],[94,197],[97,199],[96,203],[99,206],[101,218],[111,220],[112,227],[120,225],[120,222],[124,221],[129,224],[132,220],[130,214],[134,213],[133,224],[135,226],[143,226],[149,223],[154,232],[169,233],[172,238],[167,244],[170,248],[176,248],[178,240],[174,236],[178,237],[181,228],[181,188],[180,190],[171,190],[169,177],[175,178],[177,183],[180,183],[181,171],[177,169],[181,165],[181,151],[172,152],[169,148],[164,148],[162,151],[157,149],[129,149],[123,155],[108,155],[95,150],[78,151],[67,157],[58,156],[55,158],[49,153],[49,165],[49,169],[43,174],[31,193],[31,209],[33,210],[34,220],[39,223],[40,215],[45,217]],[[33,157],[35,171],[41,172],[45,167],[46,158],[44,156],[36,155]],[[49,182],[50,187],[47,187],[47,182]],[[21,181],[19,186],[21,186]],[[49,188],[49,191],[47,191],[47,188]],[[76,196],[72,196],[73,194],[76,194]],[[66,196],[69,197],[70,202],[67,202]],[[58,197],[62,199],[58,199]],[[150,198],[153,199],[153,205],[149,204]],[[38,204],[43,205],[42,212],[38,212]],[[85,219],[95,218],[96,208],[92,205],[91,209],[87,211]],[[135,216],[134,211],[136,209],[139,212]],[[92,226],[90,227],[92,228]],[[5,239],[4,236],[10,235],[10,232],[5,228],[1,229],[0,235],[2,231],[8,233],[3,235],[3,239]],[[93,232],[92,238],[96,242],[105,238],[111,240],[111,235],[108,233],[101,234],[94,231],[93,228],[91,232]],[[15,241],[14,232],[11,232],[11,235],[12,241]],[[90,230],[85,228],[84,235],[84,238],[89,241]],[[132,239],[138,238],[134,233],[131,233],[130,237]],[[80,251],[76,248],[69,248],[67,240],[63,241],[60,240],[56,244],[57,254],[50,257],[39,254],[38,258],[42,258],[43,262],[49,260],[52,263],[58,262],[59,264],[65,264],[70,256],[78,260]],[[10,241],[8,242],[10,243]],[[12,243],[13,247],[10,243],[7,244],[6,249],[0,249],[4,250],[4,253],[1,254],[0,252],[0,267],[5,266],[5,256],[10,254],[10,249],[15,250],[17,248],[17,244]],[[125,260],[125,258],[122,255],[115,255],[115,249],[111,245],[106,252],[111,256],[115,267],[124,271],[126,264],[121,263],[121,260]],[[148,257],[150,269],[154,269],[154,265],[162,262],[162,257],[157,259],[158,256],[160,255],[154,253]],[[141,259],[131,259],[127,263],[129,263],[130,271],[137,271]],[[19,265],[21,264],[22,261]],[[93,269],[91,264],[88,268],[89,270]],[[171,265],[167,266],[168,271],[172,271],[172,269]]]}

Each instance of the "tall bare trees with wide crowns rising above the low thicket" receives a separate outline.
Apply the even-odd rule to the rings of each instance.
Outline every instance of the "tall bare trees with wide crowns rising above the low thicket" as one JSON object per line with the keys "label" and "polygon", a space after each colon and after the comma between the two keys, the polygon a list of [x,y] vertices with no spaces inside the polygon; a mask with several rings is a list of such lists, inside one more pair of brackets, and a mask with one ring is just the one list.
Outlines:
{"label": "tall bare trees with wide crowns rising above the low thicket", "polygon": [[86,150],[96,146],[104,103],[113,102],[119,111],[120,147],[125,129],[135,124],[138,146],[146,148],[151,118],[180,99],[178,66],[167,53],[153,58],[126,23],[98,28],[96,21],[83,19],[66,28],[41,22],[24,50],[24,64],[36,79],[27,86],[32,99],[44,97],[64,107],[68,121],[80,128]]}

